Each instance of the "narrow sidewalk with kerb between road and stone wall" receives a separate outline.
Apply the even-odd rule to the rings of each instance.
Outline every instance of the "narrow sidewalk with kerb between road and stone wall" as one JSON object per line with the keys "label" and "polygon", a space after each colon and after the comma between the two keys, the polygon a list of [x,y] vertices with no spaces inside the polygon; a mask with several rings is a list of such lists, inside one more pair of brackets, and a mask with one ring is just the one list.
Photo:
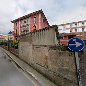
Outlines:
{"label": "narrow sidewalk with kerb between road and stone wall", "polygon": [[10,53],[9,51],[1,48],[15,63],[17,63],[18,66],[20,66],[25,72],[30,74],[32,77],[34,77],[42,86],[57,86],[47,78],[45,78],[43,75],[38,73],[36,70],[34,70],[31,66],[29,66],[27,63]]}

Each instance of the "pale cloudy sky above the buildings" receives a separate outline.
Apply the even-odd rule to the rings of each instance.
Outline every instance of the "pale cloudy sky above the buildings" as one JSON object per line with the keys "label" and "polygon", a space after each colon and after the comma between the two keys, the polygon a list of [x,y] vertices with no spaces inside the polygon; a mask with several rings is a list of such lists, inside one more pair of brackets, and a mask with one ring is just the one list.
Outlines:
{"label": "pale cloudy sky above the buildings", "polygon": [[50,25],[86,20],[86,0],[0,0],[0,33],[13,30],[12,20],[40,9]]}

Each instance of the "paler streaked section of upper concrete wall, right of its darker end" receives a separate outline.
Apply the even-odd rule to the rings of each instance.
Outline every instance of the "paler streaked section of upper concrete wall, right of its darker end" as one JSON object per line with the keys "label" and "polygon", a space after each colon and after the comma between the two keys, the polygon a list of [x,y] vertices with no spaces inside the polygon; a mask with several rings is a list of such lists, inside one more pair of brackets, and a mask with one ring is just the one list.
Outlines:
{"label": "paler streaked section of upper concrete wall, right of its darker end", "polygon": [[33,45],[55,45],[55,30],[45,29],[32,34]]}

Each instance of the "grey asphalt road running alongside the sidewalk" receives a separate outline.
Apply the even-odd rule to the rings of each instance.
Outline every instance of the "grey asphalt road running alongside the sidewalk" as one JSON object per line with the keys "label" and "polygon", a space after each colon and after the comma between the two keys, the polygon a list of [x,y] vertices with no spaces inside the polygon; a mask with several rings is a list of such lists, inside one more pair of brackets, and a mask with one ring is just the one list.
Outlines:
{"label": "grey asphalt road running alongside the sidewalk", "polygon": [[[0,86],[35,86],[0,49]],[[37,86],[37,85],[36,85]]]}

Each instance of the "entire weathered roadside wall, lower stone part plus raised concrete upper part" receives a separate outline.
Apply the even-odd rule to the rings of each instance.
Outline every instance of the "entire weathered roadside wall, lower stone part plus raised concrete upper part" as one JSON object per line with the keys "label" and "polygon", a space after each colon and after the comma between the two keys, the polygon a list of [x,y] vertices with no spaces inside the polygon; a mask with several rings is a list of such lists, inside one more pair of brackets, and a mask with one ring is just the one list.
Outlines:
{"label": "entire weathered roadside wall, lower stone part plus raised concrete upper part", "polygon": [[22,36],[19,57],[57,85],[77,86],[74,55],[59,51],[55,40],[52,28]]}

